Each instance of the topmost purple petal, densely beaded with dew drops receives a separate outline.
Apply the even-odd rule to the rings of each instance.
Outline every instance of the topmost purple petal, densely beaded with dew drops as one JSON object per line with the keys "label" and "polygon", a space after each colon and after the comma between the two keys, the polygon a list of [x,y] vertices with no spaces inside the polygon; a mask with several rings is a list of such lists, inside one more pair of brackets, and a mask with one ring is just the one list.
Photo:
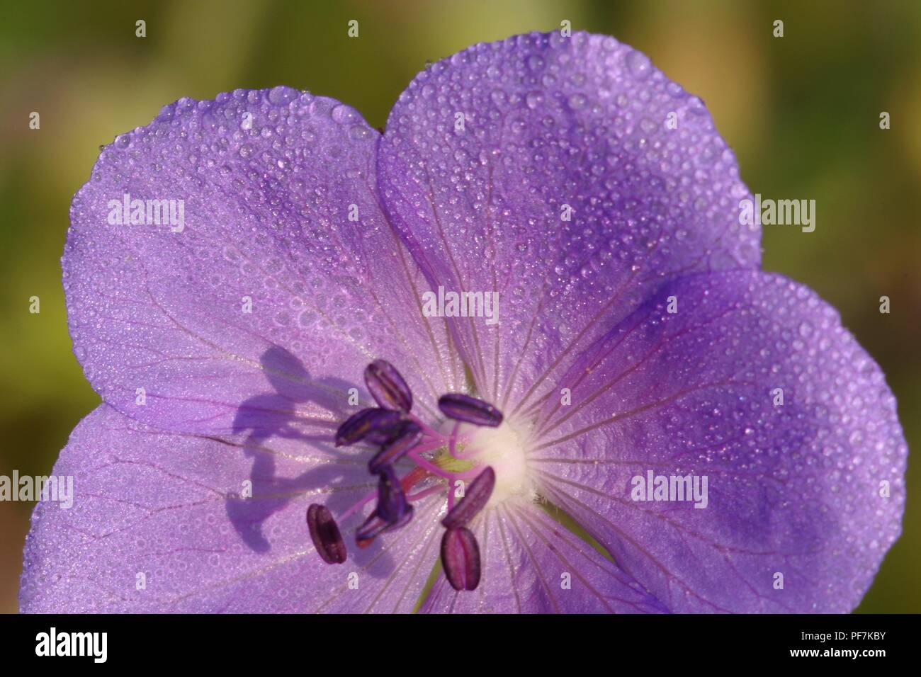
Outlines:
{"label": "topmost purple petal, densely beaded with dew drops", "polygon": [[759,228],[740,225],[751,195],[703,102],[605,36],[520,35],[430,65],[391,111],[379,183],[428,310],[480,295],[452,328],[507,415],[556,392],[663,279],[760,260]]}

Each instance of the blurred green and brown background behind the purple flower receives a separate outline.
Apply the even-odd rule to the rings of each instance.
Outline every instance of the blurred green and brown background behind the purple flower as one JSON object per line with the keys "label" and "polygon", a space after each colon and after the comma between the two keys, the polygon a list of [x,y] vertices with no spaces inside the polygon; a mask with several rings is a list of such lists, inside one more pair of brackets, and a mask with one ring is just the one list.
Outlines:
{"label": "blurred green and brown background behind the purple flower", "polygon": [[[341,99],[382,127],[426,61],[563,19],[642,50],[705,99],[753,193],[816,200],[815,232],[764,228],[764,268],[841,311],[918,449],[921,2],[39,1],[0,9],[0,474],[49,473],[99,403],[71,352],[59,260],[100,144],[180,97],[278,84]],[[892,129],[880,130],[880,111]],[[908,486],[904,535],[858,611],[921,611],[917,463]],[[2,612],[17,610],[30,510],[0,503]]]}

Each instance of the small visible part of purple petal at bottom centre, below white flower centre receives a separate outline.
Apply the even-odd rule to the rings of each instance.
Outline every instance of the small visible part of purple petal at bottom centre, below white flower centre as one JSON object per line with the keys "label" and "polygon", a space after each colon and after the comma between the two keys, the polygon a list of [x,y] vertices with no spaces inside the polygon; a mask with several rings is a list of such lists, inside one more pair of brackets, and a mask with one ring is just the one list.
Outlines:
{"label": "small visible part of purple petal at bottom centre, below white flower centre", "polygon": [[457,591],[442,574],[427,613],[661,613],[664,610],[589,543],[534,505],[486,508],[470,527],[480,581]]}

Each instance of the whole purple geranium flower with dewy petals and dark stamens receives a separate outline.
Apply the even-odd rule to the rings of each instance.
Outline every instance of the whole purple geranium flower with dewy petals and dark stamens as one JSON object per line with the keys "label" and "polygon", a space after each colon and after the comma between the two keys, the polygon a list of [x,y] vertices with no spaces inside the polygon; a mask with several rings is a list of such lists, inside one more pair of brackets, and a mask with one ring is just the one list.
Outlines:
{"label": "whole purple geranium flower with dewy petals and dark stamens", "polygon": [[850,611],[904,437],[834,309],[760,270],[750,197],[601,36],[455,54],[382,135],[283,87],[167,106],[71,209],[104,403],[22,610]]}

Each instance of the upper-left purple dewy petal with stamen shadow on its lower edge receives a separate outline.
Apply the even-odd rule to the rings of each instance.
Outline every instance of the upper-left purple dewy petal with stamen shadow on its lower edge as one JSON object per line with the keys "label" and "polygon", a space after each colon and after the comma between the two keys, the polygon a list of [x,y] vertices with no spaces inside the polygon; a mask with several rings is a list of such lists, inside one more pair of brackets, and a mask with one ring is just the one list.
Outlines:
{"label": "upper-left purple dewy petal with stamen shadow on its lower edge", "polygon": [[[434,412],[461,368],[379,208],[378,138],[347,106],[274,88],[181,99],[102,148],[63,266],[76,356],[103,399],[177,431],[328,436],[309,422],[344,420],[353,392],[372,404],[363,370],[386,356]],[[142,220],[166,201],[150,205],[160,224],[117,223],[125,195],[129,219],[130,201]]]}

